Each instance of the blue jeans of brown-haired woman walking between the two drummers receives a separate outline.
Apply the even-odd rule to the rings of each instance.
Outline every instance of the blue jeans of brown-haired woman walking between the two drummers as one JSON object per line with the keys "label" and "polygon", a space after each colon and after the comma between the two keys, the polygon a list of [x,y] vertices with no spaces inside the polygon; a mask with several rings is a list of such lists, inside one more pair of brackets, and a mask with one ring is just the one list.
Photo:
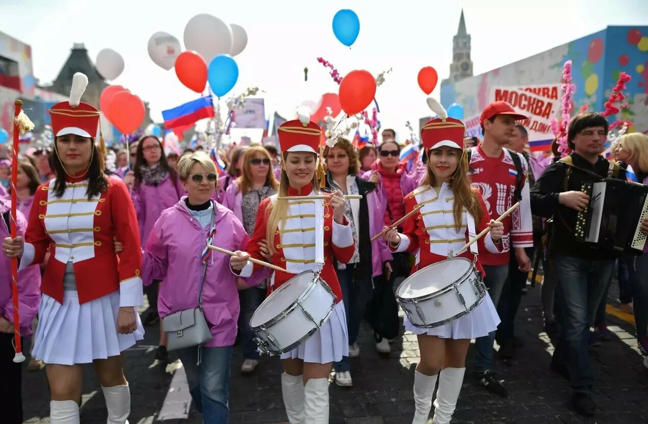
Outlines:
{"label": "blue jeans of brown-haired woman walking between the two drummers", "polygon": [[[336,270],[338,281],[340,281],[340,289],[342,290],[344,312],[347,316],[349,346],[353,345],[358,339],[360,320],[371,296],[371,277],[369,279],[357,279],[354,277],[355,272],[356,264],[347,264],[346,269]],[[334,364],[334,368],[338,372],[351,371],[349,357],[342,357],[340,362]]]}

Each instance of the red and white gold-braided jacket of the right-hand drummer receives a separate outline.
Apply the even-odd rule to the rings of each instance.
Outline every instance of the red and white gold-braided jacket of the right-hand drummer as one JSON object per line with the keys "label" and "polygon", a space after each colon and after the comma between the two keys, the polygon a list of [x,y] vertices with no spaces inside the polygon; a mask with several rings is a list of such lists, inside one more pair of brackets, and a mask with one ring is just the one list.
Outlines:
{"label": "red and white gold-braided jacket of the right-hand drummer", "polygon": [[[447,183],[443,183],[441,191],[437,194],[430,185],[422,185],[405,197],[405,212],[410,213],[415,207],[423,206],[414,215],[405,221],[403,233],[399,234],[400,244],[397,249],[390,246],[392,252],[419,252],[416,255],[416,263],[412,272],[432,265],[439,261],[448,259],[448,253],[456,254],[461,248],[480,233],[491,220],[481,194],[477,194],[481,206],[481,220],[475,222],[472,215],[464,209],[461,226],[459,230],[454,223],[454,193]],[[461,253],[459,257],[465,257],[472,261],[475,253],[479,252],[501,252],[501,244],[498,247],[490,235],[485,235],[472,244],[471,248]],[[479,256],[478,256],[479,257]],[[477,263],[478,270],[482,275],[484,270],[481,264]]]}

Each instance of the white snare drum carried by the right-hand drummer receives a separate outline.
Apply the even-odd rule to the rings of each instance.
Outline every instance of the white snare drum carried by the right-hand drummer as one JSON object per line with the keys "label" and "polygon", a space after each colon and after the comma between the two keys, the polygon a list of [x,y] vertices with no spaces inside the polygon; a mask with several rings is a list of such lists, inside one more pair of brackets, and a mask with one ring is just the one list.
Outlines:
{"label": "white snare drum carried by the right-hand drummer", "polygon": [[411,274],[400,283],[396,298],[413,326],[434,328],[469,314],[485,294],[474,263],[454,257]]}

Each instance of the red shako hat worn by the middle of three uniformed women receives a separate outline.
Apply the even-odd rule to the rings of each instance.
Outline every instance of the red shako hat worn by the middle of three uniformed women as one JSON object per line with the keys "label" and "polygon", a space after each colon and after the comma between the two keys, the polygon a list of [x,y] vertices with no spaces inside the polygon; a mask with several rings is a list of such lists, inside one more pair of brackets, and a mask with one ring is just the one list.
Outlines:
{"label": "red shako hat worn by the middle of three uniformed women", "polygon": [[310,114],[297,110],[294,121],[284,122],[277,128],[279,147],[282,152],[310,152],[318,154],[322,131],[319,125],[310,121]]}

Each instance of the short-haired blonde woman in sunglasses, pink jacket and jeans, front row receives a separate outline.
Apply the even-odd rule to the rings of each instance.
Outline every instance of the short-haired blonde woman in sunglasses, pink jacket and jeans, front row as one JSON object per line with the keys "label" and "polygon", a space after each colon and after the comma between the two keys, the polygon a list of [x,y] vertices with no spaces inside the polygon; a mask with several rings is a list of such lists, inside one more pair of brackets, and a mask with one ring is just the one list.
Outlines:
{"label": "short-haired blonde woman in sunglasses, pink jacket and jeans, front row", "polygon": [[[178,172],[188,196],[164,211],[152,229],[143,256],[143,279],[145,284],[161,280],[158,310],[163,319],[198,307],[202,284],[202,309],[213,339],[177,352],[203,422],[227,423],[229,367],[237,336],[237,282],[229,257],[206,246],[243,250],[249,237],[234,213],[211,199],[218,177],[207,154],[183,156]],[[269,275],[260,270],[246,282]]]}

